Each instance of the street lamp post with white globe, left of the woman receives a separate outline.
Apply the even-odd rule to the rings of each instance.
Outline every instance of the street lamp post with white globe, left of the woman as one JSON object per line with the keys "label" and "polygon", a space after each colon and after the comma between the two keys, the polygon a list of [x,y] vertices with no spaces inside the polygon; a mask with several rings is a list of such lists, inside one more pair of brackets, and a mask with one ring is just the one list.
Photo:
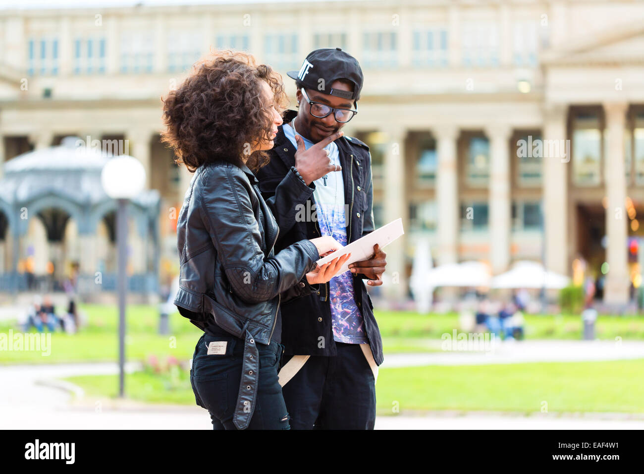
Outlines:
{"label": "street lamp post with white globe, left of the woman", "polygon": [[146,183],[146,170],[136,158],[120,155],[103,167],[100,182],[106,194],[116,199],[118,248],[118,396],[125,394],[125,306],[128,290],[128,203]]}

